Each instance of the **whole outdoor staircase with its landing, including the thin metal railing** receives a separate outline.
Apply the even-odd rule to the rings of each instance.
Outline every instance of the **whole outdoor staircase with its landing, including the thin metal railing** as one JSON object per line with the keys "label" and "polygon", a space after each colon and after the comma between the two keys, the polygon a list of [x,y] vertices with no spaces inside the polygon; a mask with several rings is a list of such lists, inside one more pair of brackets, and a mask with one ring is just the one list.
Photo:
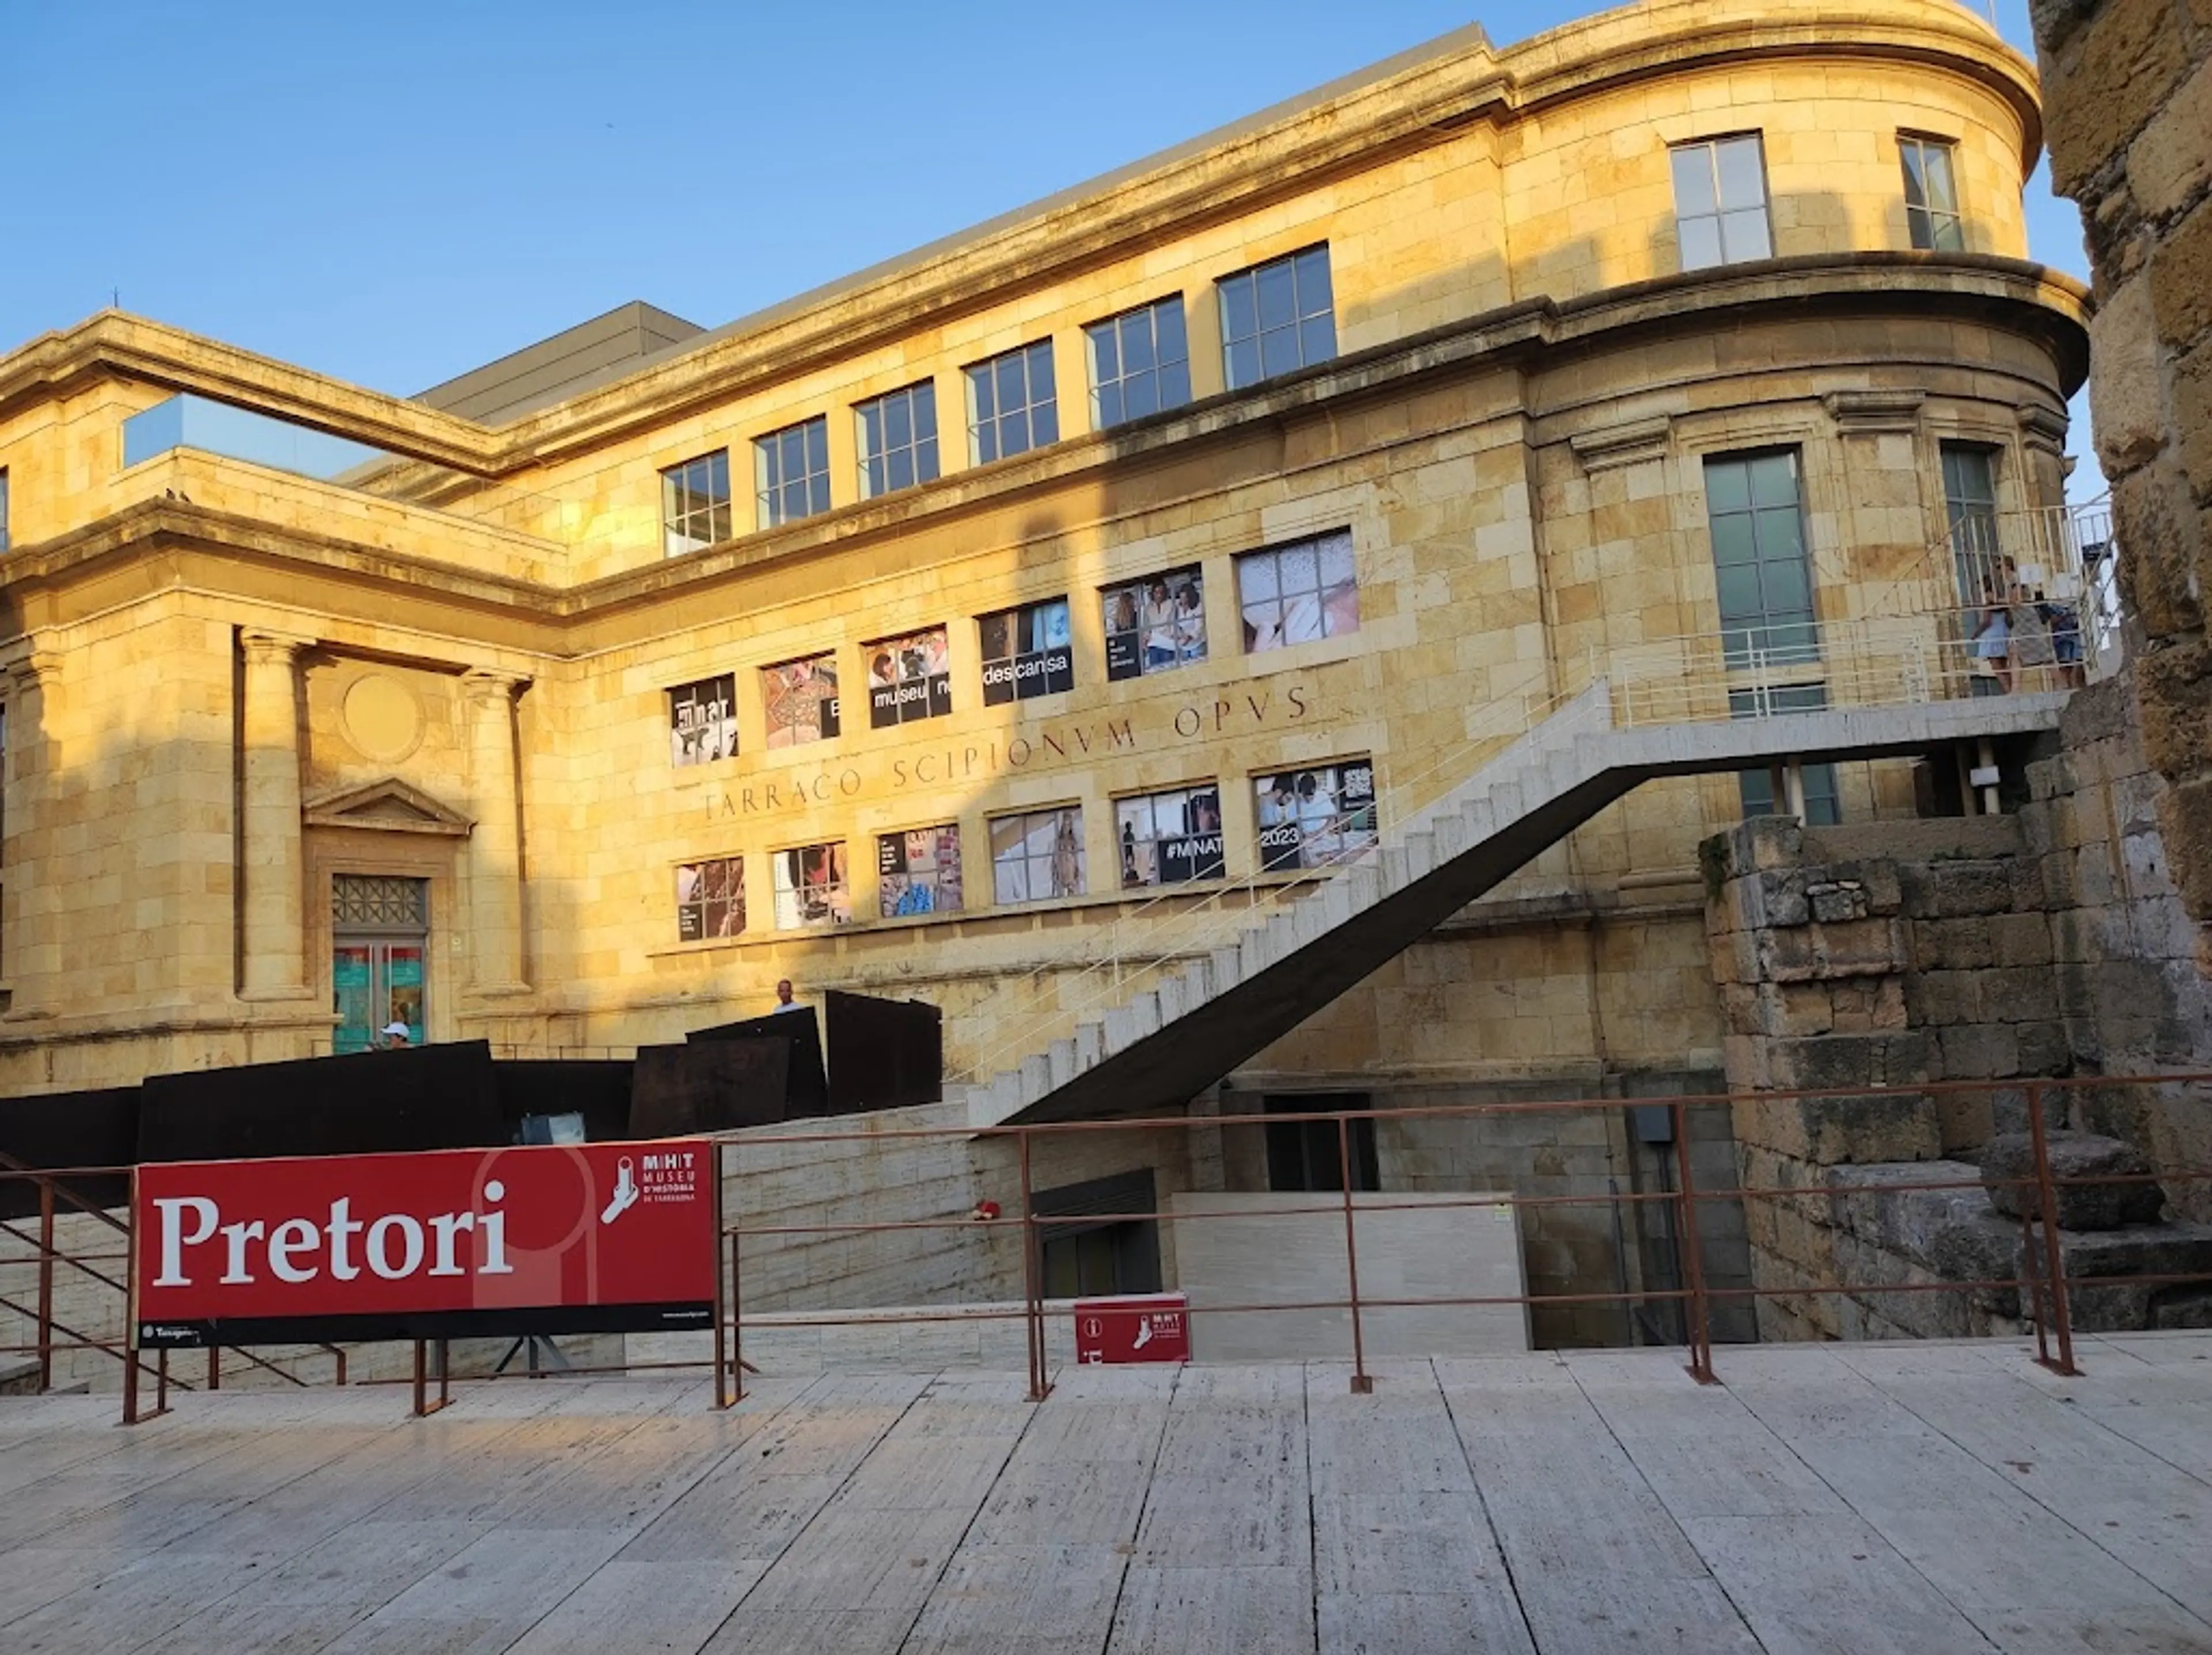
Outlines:
{"label": "whole outdoor staircase with its landing, including the thin metal railing", "polygon": [[[1955,637],[1955,617],[1916,615],[1823,624],[1816,653],[1803,628],[1781,650],[1743,631],[1666,639],[1608,655],[1575,695],[1502,697],[1378,799],[1376,843],[1155,898],[1088,962],[1035,974],[951,1097],[975,1126],[1179,1106],[1655,777],[2057,728],[2064,688],[1978,693]],[[1805,706],[1807,684],[1827,706]]]}

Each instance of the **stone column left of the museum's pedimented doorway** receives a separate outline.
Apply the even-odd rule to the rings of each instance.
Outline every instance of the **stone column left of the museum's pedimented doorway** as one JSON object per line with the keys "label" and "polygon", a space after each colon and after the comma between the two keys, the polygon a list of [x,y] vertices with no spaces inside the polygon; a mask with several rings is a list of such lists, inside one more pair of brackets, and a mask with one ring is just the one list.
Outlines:
{"label": "stone column left of the museum's pedimented doorway", "polygon": [[294,1000],[310,993],[307,876],[299,819],[299,655],[314,639],[243,633],[239,644],[246,650],[241,993],[248,1000]]}

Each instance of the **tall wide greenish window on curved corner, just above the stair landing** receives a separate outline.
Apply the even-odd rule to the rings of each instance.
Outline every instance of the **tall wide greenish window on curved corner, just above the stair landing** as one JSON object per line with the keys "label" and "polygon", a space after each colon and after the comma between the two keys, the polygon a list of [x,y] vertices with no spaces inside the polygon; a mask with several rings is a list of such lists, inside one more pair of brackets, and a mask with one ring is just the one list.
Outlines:
{"label": "tall wide greenish window on curved corner, just above the stair landing", "polygon": [[1705,513],[1728,666],[1818,659],[1796,449],[1705,460]]}

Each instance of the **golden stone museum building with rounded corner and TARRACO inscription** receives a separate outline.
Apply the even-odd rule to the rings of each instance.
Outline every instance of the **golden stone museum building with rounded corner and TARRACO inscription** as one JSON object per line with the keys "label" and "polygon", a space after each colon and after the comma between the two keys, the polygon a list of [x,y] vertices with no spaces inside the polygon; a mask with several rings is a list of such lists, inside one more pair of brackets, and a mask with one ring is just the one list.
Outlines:
{"label": "golden stone museum building with rounded corner and TARRACO inscription", "polygon": [[[2064,498],[2039,142],[1949,0],[1646,4],[418,396],[42,334],[0,356],[0,1089],[394,1020],[628,1051],[779,978],[929,1000],[964,1071],[1387,834],[1515,697],[1951,624],[1958,524]],[[1228,1086],[1712,1084],[1697,843],[1774,785],[1639,788]],[[1916,812],[1898,759],[1787,788]]]}

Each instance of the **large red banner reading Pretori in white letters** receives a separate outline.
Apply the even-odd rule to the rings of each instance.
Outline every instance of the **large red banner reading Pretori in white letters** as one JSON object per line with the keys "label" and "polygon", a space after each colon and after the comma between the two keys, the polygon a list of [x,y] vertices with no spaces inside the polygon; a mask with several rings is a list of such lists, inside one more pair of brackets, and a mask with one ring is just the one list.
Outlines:
{"label": "large red banner reading Pretori in white letters", "polygon": [[137,1168],[148,1347],[712,1328],[706,1139]]}

